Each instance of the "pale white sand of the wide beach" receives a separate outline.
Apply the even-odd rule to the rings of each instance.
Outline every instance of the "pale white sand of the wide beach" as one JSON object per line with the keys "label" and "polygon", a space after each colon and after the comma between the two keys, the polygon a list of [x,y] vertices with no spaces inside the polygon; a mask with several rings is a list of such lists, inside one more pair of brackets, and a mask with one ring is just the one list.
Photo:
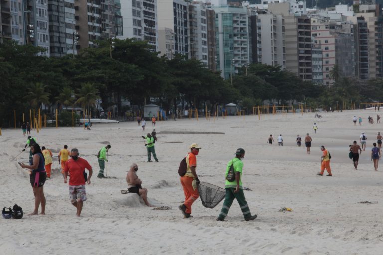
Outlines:
{"label": "pale white sand of the wide beach", "polygon": [[[92,184],[87,187],[88,200],[82,217],[68,198],[68,186],[56,171],[45,183],[46,213],[24,216],[22,220],[0,219],[1,255],[41,254],[382,254],[382,186],[383,165],[375,172],[370,149],[383,124],[369,125],[374,110],[343,113],[221,117],[215,122],[200,118],[159,122],[161,131],[214,131],[214,134],[159,134],[156,153],[159,163],[144,163],[146,149],[137,123],[94,125],[82,128],[45,128],[32,132],[40,145],[58,151],[64,144],[80,150],[94,169]],[[360,115],[363,125],[354,127],[352,117]],[[313,122],[319,130],[313,134]],[[148,122],[148,131],[151,124]],[[368,146],[355,171],[348,158],[348,145],[366,133]],[[309,132],[313,137],[311,155],[305,147],[295,145],[297,134]],[[146,132],[145,132],[146,133]],[[284,146],[269,146],[273,134],[284,137]],[[27,162],[23,148],[26,138],[21,130],[3,130],[0,136],[0,206],[20,205],[25,213],[33,210],[33,194],[28,175],[17,161]],[[110,142],[108,175],[117,179],[98,179],[95,154]],[[169,143],[180,142],[180,143]],[[198,155],[197,172],[201,181],[224,187],[227,162],[238,147],[246,150],[243,183],[251,212],[258,214],[245,222],[237,202],[233,203],[225,222],[216,222],[222,206],[204,208],[198,200],[192,207],[192,219],[184,219],[178,210],[183,191],[177,174],[178,164],[191,143],[203,148]],[[302,142],[303,143],[303,142]],[[333,159],[333,177],[316,176],[321,151],[326,146]],[[57,155],[57,153],[54,153]],[[149,189],[150,200],[168,205],[172,210],[151,210],[138,203],[126,188],[126,171],[137,162],[138,175]],[[53,169],[59,168],[57,158]],[[326,173],[326,172],[325,172]],[[359,201],[377,204],[358,204]],[[291,207],[293,212],[278,212]]]}

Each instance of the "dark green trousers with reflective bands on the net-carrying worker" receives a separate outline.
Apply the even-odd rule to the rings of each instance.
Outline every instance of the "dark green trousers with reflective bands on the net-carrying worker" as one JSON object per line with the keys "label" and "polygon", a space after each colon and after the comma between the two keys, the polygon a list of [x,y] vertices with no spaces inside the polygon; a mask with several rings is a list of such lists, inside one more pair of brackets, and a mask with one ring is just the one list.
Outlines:
{"label": "dark green trousers with reflective bands on the net-carrying worker", "polygon": [[221,213],[218,218],[224,219],[229,213],[230,207],[236,199],[238,201],[239,206],[241,207],[243,217],[249,218],[251,216],[249,206],[247,205],[245,194],[243,193],[243,189],[239,189],[238,193],[234,193],[235,188],[226,188],[226,196],[225,201],[223,202],[223,206],[221,209]]}

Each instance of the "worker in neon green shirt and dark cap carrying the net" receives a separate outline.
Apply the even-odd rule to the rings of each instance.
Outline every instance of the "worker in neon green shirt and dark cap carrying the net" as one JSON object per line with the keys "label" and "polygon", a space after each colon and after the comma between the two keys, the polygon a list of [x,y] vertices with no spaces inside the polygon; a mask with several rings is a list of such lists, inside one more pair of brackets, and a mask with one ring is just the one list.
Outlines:
{"label": "worker in neon green shirt and dark cap carrying the net", "polygon": [[[242,186],[243,162],[242,162],[242,159],[244,157],[245,157],[245,150],[242,148],[239,148],[235,152],[235,158],[230,160],[229,163],[227,164],[226,173],[225,173],[226,196],[225,196],[225,200],[223,202],[221,213],[219,214],[217,221],[223,221],[226,218],[234,199],[236,199],[238,201],[238,204],[242,210],[243,217],[245,218],[245,221],[252,221],[252,220],[255,220],[257,218],[256,214],[251,215],[249,206],[248,206],[246,198],[245,198],[245,194],[243,193],[243,186]],[[233,166],[234,173],[235,173],[235,180],[233,180],[233,181],[229,181],[227,179],[231,165]]]}

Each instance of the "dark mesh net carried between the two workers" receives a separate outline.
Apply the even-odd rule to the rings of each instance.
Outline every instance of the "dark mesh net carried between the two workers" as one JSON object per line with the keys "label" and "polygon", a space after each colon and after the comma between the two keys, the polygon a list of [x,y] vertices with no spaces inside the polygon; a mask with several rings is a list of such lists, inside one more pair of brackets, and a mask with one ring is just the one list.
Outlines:
{"label": "dark mesh net carried between the two workers", "polygon": [[198,192],[202,205],[207,208],[216,207],[226,195],[225,189],[206,182],[198,184]]}

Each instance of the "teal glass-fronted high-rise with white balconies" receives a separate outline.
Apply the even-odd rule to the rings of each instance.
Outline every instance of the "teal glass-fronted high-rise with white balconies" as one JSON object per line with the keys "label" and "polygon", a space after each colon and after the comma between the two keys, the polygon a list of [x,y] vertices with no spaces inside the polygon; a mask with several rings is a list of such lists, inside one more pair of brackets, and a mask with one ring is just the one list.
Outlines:
{"label": "teal glass-fronted high-rise with white balconies", "polygon": [[242,6],[211,6],[215,11],[217,70],[224,79],[252,63],[250,10]]}

